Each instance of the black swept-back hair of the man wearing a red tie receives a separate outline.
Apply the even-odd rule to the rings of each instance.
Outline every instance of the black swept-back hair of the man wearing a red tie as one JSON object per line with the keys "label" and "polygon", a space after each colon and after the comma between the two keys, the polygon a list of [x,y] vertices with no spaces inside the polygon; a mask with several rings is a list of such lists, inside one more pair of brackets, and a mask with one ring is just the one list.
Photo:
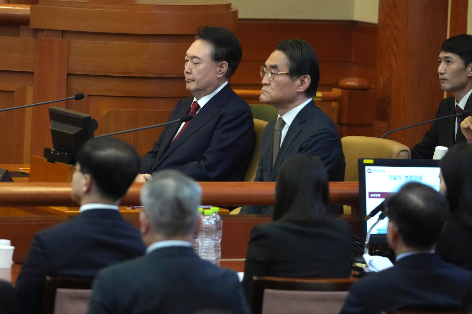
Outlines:
{"label": "black swept-back hair of the man wearing a red tie", "polygon": [[236,36],[221,26],[201,26],[198,28],[195,39],[206,40],[213,45],[211,59],[213,62],[228,62],[225,77],[230,78],[241,62],[242,56],[241,44]]}

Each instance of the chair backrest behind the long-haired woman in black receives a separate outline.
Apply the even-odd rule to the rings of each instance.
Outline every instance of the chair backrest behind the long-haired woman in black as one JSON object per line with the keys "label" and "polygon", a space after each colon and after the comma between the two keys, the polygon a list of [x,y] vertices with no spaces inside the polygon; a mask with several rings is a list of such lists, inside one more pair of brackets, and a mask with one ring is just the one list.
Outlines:
{"label": "chair backrest behind the long-haired woman in black", "polygon": [[[347,290],[355,280],[355,278],[305,279],[254,276],[251,308],[253,314],[296,314],[303,313],[303,304],[303,308],[324,306],[322,313],[339,313],[347,297]],[[316,293],[320,291],[324,293]],[[344,293],[332,293],[335,291]],[[329,309],[331,310],[328,311]]]}

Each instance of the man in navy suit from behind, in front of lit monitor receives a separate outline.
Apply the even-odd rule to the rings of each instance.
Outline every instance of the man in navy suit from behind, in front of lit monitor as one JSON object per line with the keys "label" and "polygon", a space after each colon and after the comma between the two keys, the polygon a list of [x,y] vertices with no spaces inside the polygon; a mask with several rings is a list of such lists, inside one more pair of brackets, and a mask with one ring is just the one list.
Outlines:
{"label": "man in navy suit from behind, in front of lit monitor", "polygon": [[387,240],[396,264],[354,282],[341,313],[458,307],[472,273],[434,252],[449,214],[444,196],[430,186],[408,183],[387,198],[386,208]]}

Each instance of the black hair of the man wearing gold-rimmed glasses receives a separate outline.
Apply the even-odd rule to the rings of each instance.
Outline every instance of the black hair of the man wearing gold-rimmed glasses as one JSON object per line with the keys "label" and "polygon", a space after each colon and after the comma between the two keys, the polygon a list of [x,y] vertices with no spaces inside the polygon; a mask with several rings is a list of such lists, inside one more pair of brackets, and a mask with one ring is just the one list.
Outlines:
{"label": "black hair of the man wearing gold-rimmed glasses", "polygon": [[282,51],[288,59],[288,72],[292,80],[302,75],[310,75],[310,86],[305,95],[314,97],[320,83],[320,64],[312,45],[298,38],[278,42],[275,50]]}

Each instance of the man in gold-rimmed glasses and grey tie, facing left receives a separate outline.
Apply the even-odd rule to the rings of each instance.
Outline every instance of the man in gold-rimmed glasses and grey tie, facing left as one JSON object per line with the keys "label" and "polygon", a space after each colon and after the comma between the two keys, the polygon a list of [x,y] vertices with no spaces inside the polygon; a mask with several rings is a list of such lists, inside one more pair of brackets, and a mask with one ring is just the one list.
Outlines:
{"label": "man in gold-rimmed glasses and grey tie, facing left", "polygon": [[[299,152],[320,157],[329,181],[343,181],[346,162],[336,125],[312,99],[320,81],[312,46],[299,39],[280,41],[261,67],[261,77],[259,100],[275,106],[278,119],[270,121],[262,133],[254,181],[277,181],[282,161]],[[244,206],[240,213],[272,211],[272,206]]]}

